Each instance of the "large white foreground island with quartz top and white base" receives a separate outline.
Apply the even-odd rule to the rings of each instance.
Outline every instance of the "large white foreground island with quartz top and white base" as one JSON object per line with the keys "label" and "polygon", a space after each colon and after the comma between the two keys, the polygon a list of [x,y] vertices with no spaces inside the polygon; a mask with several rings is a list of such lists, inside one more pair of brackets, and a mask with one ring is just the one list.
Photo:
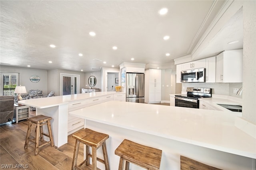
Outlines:
{"label": "large white foreground island with quartz top and white base", "polygon": [[180,169],[180,155],[225,170],[256,169],[256,139],[235,126],[229,111],[109,101],[69,113],[110,135],[111,169],[118,168],[114,150],[123,139],[161,149],[161,170]]}

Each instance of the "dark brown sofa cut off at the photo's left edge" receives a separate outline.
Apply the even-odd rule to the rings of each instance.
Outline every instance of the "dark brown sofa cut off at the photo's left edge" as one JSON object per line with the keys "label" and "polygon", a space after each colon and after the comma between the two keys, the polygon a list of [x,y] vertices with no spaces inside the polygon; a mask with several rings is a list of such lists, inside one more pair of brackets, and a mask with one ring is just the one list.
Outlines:
{"label": "dark brown sofa cut off at the photo's left edge", "polygon": [[12,121],[14,96],[0,96],[0,123]]}

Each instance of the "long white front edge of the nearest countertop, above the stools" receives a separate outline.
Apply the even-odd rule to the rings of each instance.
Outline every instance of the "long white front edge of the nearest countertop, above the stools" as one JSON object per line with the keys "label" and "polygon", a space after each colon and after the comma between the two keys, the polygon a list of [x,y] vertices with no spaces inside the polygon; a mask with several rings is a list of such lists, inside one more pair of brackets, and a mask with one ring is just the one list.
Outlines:
{"label": "long white front edge of the nearest countertop, above the stools", "polygon": [[154,133],[154,132],[151,132],[151,131],[142,131],[141,129],[132,128],[130,126],[124,126],[124,125],[120,125],[120,124],[117,124],[117,123],[110,123],[110,122],[106,122],[106,121],[100,121],[98,119],[87,118],[85,116],[80,116],[80,115],[76,115],[76,114],[72,114],[72,113],[69,113],[69,114],[72,115],[72,116],[80,117],[80,118],[87,119],[87,120],[90,120],[90,121],[95,121],[95,122],[98,122],[98,123],[104,123],[106,125],[116,126],[116,127],[120,127],[120,128],[124,128],[124,129],[138,131],[138,132],[141,132],[141,133],[146,133],[146,134],[149,134],[149,135],[155,135],[155,136],[163,137],[163,138],[166,138],[166,139],[172,139],[172,140],[179,141],[179,142],[184,142],[184,143],[188,143],[188,144],[192,144],[192,145],[197,145],[197,146],[200,146],[200,147],[205,147],[205,148],[209,148],[209,149],[219,150],[219,151],[222,151],[222,152],[228,152],[228,153],[237,154],[237,155],[241,155],[241,156],[256,159],[256,154],[246,152],[246,151],[243,152],[241,150],[216,146],[216,145],[212,145],[212,144],[209,144],[209,143],[194,141],[192,139],[185,139],[185,138],[176,137],[176,136],[169,136],[169,135],[166,136],[166,135],[159,134],[159,133]]}

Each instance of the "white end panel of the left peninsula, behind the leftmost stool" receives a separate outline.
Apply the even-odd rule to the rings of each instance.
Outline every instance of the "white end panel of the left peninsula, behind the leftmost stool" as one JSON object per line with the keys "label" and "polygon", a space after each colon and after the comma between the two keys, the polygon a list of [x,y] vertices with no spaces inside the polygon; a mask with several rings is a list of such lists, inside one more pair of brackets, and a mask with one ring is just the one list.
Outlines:
{"label": "white end panel of the left peninsula, behind the leftmost stool", "polygon": [[[45,115],[52,117],[52,135],[54,139],[54,145],[60,147],[65,143],[68,143],[68,105],[59,105],[54,107],[48,107],[44,109],[36,108],[36,115]],[[44,132],[48,132],[47,126],[43,126]],[[44,137],[44,140],[49,141],[48,137]]]}

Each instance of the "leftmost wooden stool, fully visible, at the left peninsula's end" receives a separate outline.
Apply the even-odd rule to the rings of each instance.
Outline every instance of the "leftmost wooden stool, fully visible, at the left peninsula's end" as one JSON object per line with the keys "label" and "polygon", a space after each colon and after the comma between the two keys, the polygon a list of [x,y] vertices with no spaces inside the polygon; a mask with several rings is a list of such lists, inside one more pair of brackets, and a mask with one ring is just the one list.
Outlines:
{"label": "leftmost wooden stool, fully visible, at the left peninsula's end", "polygon": [[[52,117],[47,117],[47,116],[44,116],[44,115],[37,115],[35,117],[27,118],[27,120],[29,122],[28,122],[28,131],[27,131],[27,135],[26,135],[26,141],[25,141],[24,149],[28,148],[28,142],[29,141],[31,141],[31,142],[36,144],[35,145],[35,155],[38,154],[38,149],[40,147],[43,147],[44,145],[47,145],[48,143],[51,143],[52,147],[54,146],[50,119],[52,119]],[[36,124],[36,138],[35,139],[30,139],[32,123]],[[43,132],[43,125],[47,125],[47,127],[48,127],[48,134]],[[47,143],[44,143],[42,145],[39,145],[39,136],[41,138],[41,142],[44,141],[44,136],[49,137],[50,141],[48,141]]]}

